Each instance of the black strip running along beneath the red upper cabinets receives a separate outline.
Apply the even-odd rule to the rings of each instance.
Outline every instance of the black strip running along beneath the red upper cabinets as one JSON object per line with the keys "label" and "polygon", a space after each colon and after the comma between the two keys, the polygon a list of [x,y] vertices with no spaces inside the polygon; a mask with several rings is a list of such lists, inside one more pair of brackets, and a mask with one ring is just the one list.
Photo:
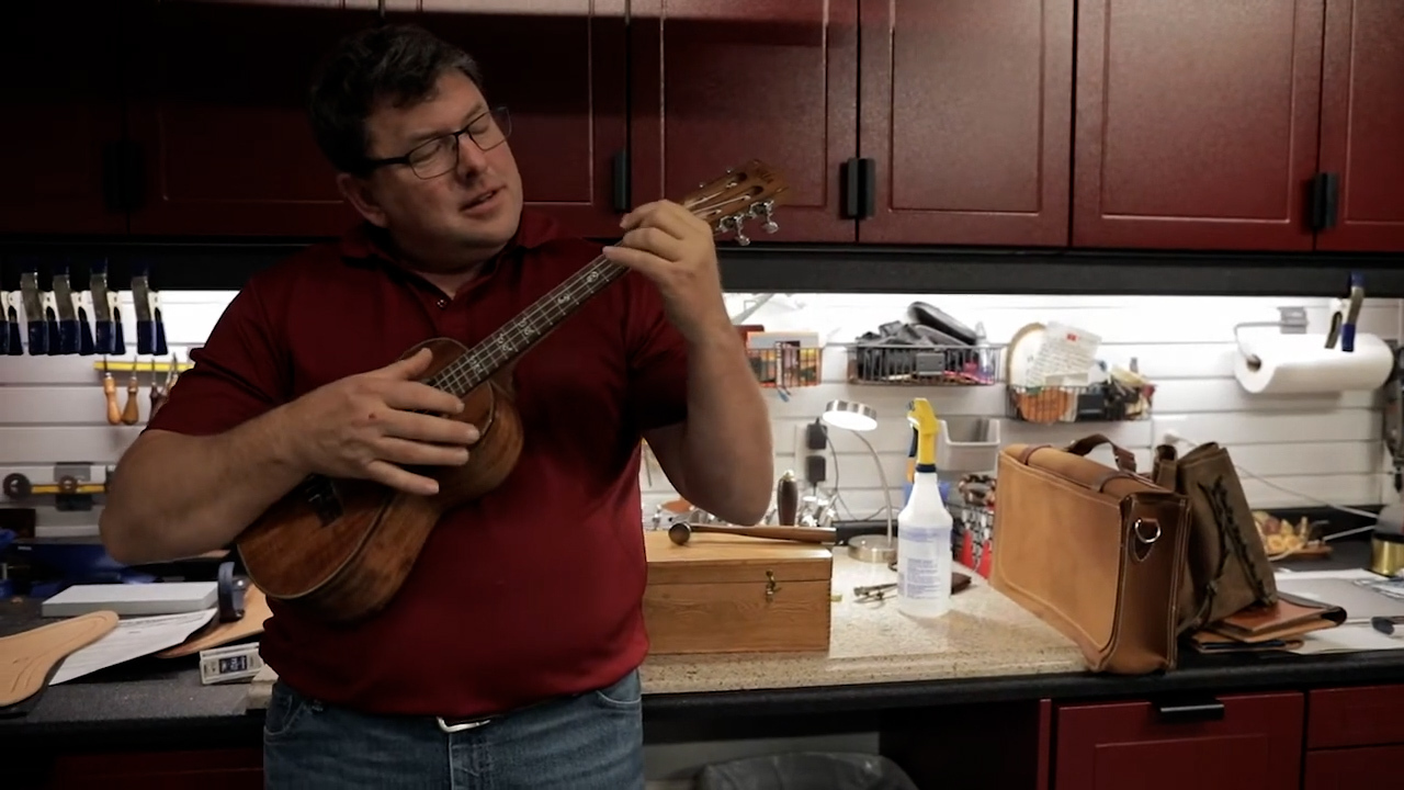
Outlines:
{"label": "black strip running along beneath the red upper cabinets", "polygon": [[[254,273],[296,253],[298,240],[3,239],[0,285],[15,288],[20,261],[67,257],[73,284],[87,287],[90,260],[105,257],[111,283],[126,288],[129,263],[152,267],[164,291],[237,290]],[[856,245],[720,246],[730,292],[1258,295],[1323,297],[1348,290],[1352,273],[1372,298],[1404,297],[1401,253],[1213,253],[1165,250],[986,249]]]}

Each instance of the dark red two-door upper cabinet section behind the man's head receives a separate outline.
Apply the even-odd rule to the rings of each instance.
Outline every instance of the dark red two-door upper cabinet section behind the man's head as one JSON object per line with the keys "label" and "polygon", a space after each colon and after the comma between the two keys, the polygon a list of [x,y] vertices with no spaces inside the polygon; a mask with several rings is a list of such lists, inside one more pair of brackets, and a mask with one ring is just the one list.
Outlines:
{"label": "dark red two-door upper cabinet section behind the man's head", "polygon": [[[625,0],[522,3],[483,13],[466,0],[392,0],[411,21],[479,60],[525,200],[577,233],[618,229],[615,155],[628,141]],[[338,38],[375,24],[373,4],[164,1],[132,22],[129,134],[146,188],[139,235],[336,235],[358,215],[336,186],[306,119],[306,87]],[[469,13],[473,11],[473,13]],[[487,8],[491,11],[491,8]],[[532,41],[531,67],[521,42]],[[543,73],[552,79],[541,79]]]}

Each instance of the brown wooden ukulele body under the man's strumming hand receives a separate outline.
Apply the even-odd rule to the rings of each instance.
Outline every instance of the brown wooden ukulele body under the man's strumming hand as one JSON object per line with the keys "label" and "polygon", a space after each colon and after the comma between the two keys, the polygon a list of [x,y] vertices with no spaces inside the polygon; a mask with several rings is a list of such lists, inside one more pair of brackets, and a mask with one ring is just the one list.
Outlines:
{"label": "brown wooden ukulele body under the man's strumming hand", "polygon": [[[468,353],[446,337],[406,351],[434,353],[417,381]],[[293,488],[236,540],[250,581],[277,599],[329,623],[375,614],[395,596],[444,512],[496,489],[521,457],[522,425],[512,403],[512,368],[462,396],[449,419],[477,426],[462,467],[417,467],[439,482],[434,496],[410,495],[366,479],[313,475]]]}

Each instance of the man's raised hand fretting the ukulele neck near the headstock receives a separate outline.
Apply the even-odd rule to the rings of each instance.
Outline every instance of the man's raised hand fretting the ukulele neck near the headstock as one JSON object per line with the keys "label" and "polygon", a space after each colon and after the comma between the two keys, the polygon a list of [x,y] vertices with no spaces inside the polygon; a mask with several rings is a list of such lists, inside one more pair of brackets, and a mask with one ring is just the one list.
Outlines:
{"label": "man's raised hand fretting the ukulele neck near the headstock", "polygon": [[637,270],[657,285],[668,319],[688,339],[727,328],[712,228],[677,202],[660,200],[629,212],[618,245],[605,257]]}

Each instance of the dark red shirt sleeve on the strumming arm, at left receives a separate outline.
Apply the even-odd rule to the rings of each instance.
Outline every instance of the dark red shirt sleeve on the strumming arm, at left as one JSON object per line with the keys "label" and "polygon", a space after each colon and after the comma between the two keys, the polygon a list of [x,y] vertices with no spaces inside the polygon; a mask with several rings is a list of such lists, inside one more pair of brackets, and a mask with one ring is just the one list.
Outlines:
{"label": "dark red shirt sleeve on the strumming arm, at left", "polygon": [[289,356],[257,278],[230,299],[146,430],[223,433],[288,399]]}

